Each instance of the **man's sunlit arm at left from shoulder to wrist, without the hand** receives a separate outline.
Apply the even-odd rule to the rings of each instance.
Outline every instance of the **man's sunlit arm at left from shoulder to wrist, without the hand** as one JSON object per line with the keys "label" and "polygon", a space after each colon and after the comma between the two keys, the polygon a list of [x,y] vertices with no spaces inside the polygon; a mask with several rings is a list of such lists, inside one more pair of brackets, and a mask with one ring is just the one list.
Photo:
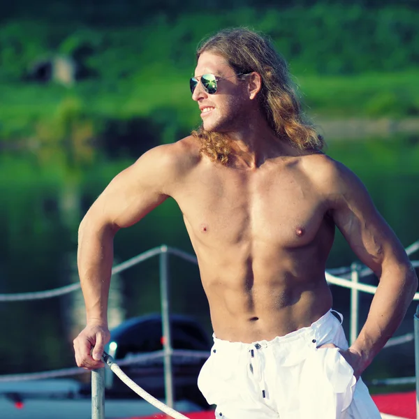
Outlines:
{"label": "man's sunlit arm at left from shoulder to wrist, without the hand", "polygon": [[107,324],[115,233],[140,221],[167,198],[163,189],[170,168],[165,167],[168,159],[163,153],[164,149],[152,149],[119,173],[80,223],[78,270],[88,323]]}

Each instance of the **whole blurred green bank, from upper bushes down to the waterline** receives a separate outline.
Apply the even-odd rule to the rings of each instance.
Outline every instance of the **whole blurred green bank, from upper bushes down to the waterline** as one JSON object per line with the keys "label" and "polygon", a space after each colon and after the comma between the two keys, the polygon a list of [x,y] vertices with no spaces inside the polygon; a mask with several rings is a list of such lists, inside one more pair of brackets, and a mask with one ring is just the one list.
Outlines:
{"label": "whole blurred green bank, from upper bushes down to the waterline", "polygon": [[[291,63],[309,113],[330,117],[418,115],[419,10],[304,0],[289,8],[251,8],[245,7],[251,2],[244,2],[234,10],[219,13],[212,9],[203,15],[195,7],[187,8],[188,13],[180,13],[180,8],[179,13],[170,14],[174,3],[166,3],[166,13],[152,14],[137,5],[147,15],[147,19],[138,18],[137,24],[132,19],[126,21],[129,24],[117,24],[115,17],[113,25],[104,27],[99,15],[95,22],[83,21],[88,7],[81,3],[82,24],[73,23],[70,17],[66,22],[15,20],[3,24],[1,137],[27,142],[35,135],[43,142],[65,144],[74,161],[80,160],[80,154],[71,150],[83,149],[89,139],[102,135],[107,119],[121,119],[121,124],[142,119],[145,131],[147,126],[154,127],[159,142],[180,138],[199,123],[187,88],[196,45],[214,31],[232,26],[247,26],[272,36]],[[59,7],[70,13],[76,4]],[[116,8],[122,16],[131,6],[108,1],[100,13]],[[78,62],[81,80],[74,87],[27,80],[34,63],[54,54]],[[135,126],[142,131],[137,123]],[[82,160],[91,159],[88,148]]]}

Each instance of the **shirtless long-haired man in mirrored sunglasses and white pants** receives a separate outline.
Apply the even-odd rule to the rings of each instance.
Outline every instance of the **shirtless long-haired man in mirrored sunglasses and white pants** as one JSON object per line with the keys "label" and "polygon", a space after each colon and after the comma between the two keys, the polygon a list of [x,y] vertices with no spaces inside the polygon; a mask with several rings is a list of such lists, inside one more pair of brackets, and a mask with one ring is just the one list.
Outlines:
{"label": "shirtless long-haired man in mirrored sunglasses and white pants", "polygon": [[[115,233],[172,197],[210,304],[214,347],[198,385],[216,417],[379,418],[360,374],[416,291],[409,258],[360,180],[321,152],[269,41],[221,31],[197,58],[203,125],[117,175],[80,225],[78,365],[103,367]],[[380,280],[349,348],[325,281],[335,226]]]}

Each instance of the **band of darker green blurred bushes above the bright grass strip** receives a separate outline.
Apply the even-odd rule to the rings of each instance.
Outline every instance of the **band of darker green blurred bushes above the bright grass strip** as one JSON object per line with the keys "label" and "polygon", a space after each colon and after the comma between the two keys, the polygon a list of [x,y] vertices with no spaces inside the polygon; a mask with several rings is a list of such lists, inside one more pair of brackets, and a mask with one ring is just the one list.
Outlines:
{"label": "band of darker green blurred bushes above the bright grass strip", "polygon": [[[245,5],[246,3],[244,3]],[[22,79],[29,65],[52,53],[69,54],[84,75],[103,82],[147,73],[145,68],[191,71],[198,41],[223,27],[249,26],[272,36],[299,73],[395,71],[419,64],[419,11],[367,9],[354,3],[292,8],[247,8],[205,15],[147,11],[137,24],[102,27],[15,21],[0,28],[0,75]],[[195,10],[195,9],[193,9]]]}

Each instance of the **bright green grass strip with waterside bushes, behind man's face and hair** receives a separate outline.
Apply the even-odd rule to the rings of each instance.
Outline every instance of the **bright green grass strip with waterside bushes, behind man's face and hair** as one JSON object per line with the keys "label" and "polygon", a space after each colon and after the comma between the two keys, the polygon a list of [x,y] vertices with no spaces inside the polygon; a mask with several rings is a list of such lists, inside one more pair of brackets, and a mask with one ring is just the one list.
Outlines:
{"label": "bright green grass strip with waterside bushes, behind man's face and hair", "polygon": [[[416,116],[416,80],[413,71],[296,78],[309,116],[327,118]],[[38,147],[43,163],[74,169],[94,163],[101,151],[135,159],[149,147],[183,138],[200,122],[187,75],[175,72],[164,78],[150,74],[116,92],[87,81],[70,90],[0,86],[0,96],[3,142]]]}

